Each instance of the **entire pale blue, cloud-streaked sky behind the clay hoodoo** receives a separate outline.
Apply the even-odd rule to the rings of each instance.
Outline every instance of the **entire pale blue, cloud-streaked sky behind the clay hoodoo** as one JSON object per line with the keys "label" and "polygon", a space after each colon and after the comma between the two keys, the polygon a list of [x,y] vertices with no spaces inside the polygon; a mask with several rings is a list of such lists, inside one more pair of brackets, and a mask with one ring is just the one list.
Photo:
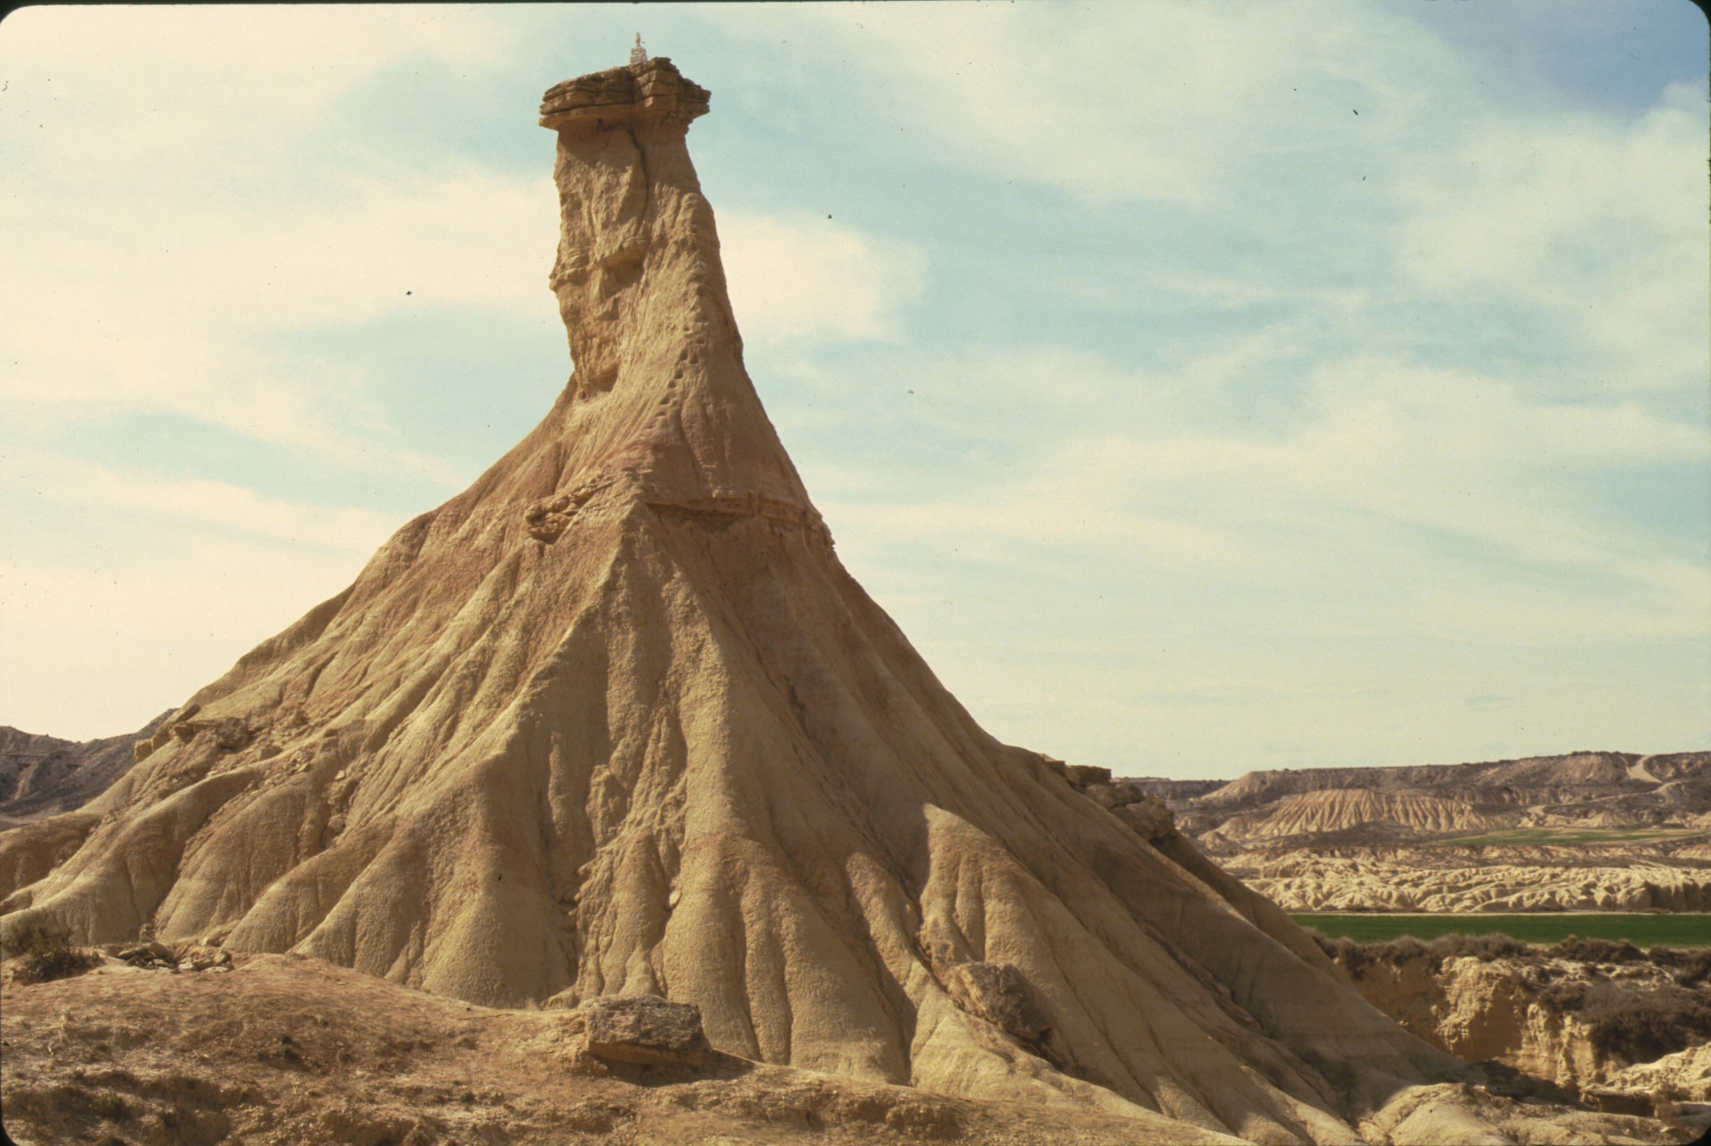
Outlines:
{"label": "entire pale blue, cloud-streaked sky behind the clay hoodoo", "polygon": [[536,108],[636,31],[844,563],[994,735],[1711,747],[1687,0],[14,12],[0,724],[137,729],[546,414]]}

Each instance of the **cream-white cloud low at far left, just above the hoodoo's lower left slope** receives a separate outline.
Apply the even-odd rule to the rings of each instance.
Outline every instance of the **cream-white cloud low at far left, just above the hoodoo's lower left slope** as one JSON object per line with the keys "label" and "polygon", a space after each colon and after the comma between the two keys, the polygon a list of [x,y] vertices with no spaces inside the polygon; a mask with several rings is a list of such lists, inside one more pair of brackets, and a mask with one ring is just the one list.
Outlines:
{"label": "cream-white cloud low at far left, just above the hoodoo's lower left slope", "polygon": [[9,453],[0,482],[0,720],[74,739],[135,729],[216,679],[402,523],[39,453]]}

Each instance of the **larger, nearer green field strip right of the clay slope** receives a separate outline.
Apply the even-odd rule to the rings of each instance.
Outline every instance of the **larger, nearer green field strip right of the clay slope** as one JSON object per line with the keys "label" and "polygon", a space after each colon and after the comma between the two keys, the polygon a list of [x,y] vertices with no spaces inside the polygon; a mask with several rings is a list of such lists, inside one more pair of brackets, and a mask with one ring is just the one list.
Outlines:
{"label": "larger, nearer green field strip right of the clay slope", "polygon": [[1290,915],[1302,927],[1312,927],[1331,939],[1347,936],[1355,942],[1377,942],[1413,936],[1509,936],[1523,942],[1550,946],[1569,936],[1581,939],[1627,939],[1637,948],[1711,948],[1711,915],[1649,915],[1605,912],[1569,915]]}

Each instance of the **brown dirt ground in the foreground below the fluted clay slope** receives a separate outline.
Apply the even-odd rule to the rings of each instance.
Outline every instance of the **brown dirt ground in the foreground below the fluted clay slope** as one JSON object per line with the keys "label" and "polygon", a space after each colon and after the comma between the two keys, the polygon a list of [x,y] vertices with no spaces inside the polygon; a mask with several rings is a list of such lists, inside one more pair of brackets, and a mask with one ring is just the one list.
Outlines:
{"label": "brown dirt ground in the foreground below the fluted clay slope", "polygon": [[0,985],[0,1103],[21,1146],[1234,1141],[1160,1120],[975,1103],[722,1055],[607,1064],[566,1011],[469,1006],[299,956]]}

